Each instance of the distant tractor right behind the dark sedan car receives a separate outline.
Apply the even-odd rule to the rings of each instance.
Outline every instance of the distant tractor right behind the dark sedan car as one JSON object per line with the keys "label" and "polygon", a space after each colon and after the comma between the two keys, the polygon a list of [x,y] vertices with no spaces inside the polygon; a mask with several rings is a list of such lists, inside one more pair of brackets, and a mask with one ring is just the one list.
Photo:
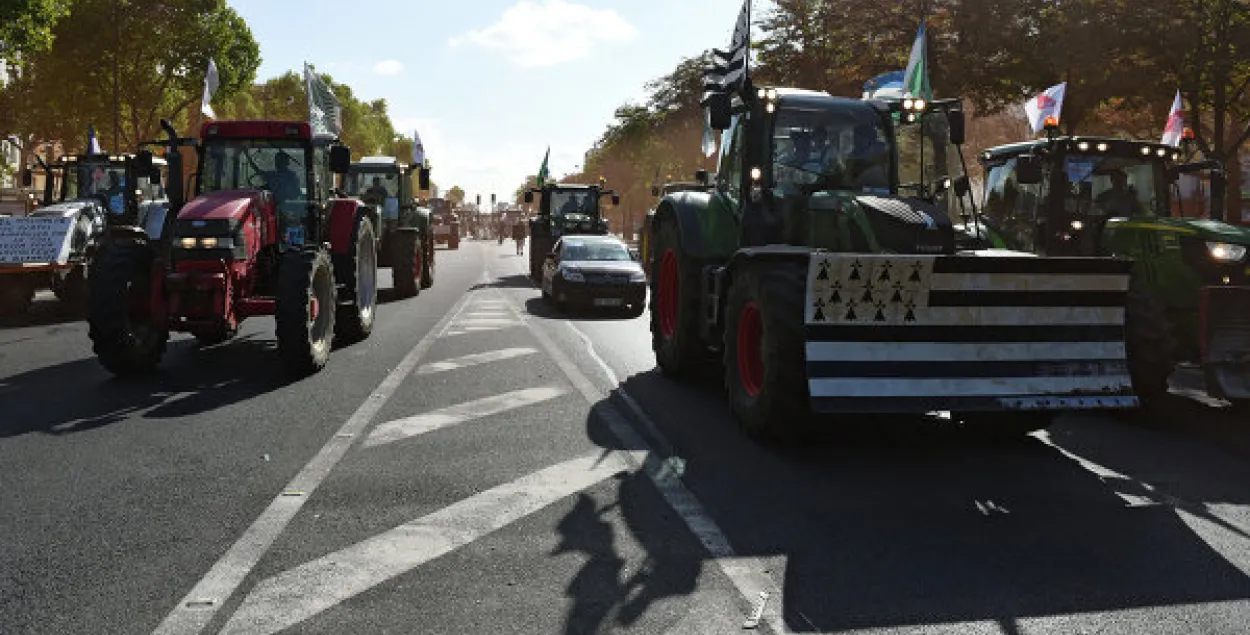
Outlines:
{"label": "distant tractor right behind the dark sedan car", "polygon": [[535,282],[542,280],[542,259],[551,252],[560,236],[608,235],[608,219],[604,218],[602,196],[611,196],[612,205],[620,205],[621,198],[606,189],[606,182],[598,185],[548,184],[525,191],[525,202],[534,202],[538,194],[539,212],[530,219],[530,278]]}

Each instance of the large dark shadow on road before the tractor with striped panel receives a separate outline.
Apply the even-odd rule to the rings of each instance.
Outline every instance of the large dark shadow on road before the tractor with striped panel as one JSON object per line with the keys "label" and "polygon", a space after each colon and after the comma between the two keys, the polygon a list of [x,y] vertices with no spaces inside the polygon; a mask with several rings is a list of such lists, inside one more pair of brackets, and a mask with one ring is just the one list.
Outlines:
{"label": "large dark shadow on road before the tractor with striped panel", "polygon": [[[775,579],[795,631],[988,621],[1020,632],[1029,618],[1250,599],[1250,579],[1171,505],[1135,506],[1120,496],[1145,490],[1134,471],[1166,461],[1164,446],[1155,456],[1111,458],[1128,479],[1100,478],[1038,436],[978,441],[915,419],[765,450],[735,430],[716,384],[678,385],[650,371],[622,388],[679,449],[682,482],[738,555],[784,558]],[[1055,430],[1074,446],[1100,434],[1080,421]],[[594,420],[588,434],[622,449]],[[674,534],[660,540],[635,521],[662,499],[654,490],[636,495],[651,489],[646,476],[620,482],[626,524],[651,568],[669,572],[665,585],[650,585],[648,601],[691,592],[700,568],[672,556]],[[1244,488],[1184,494],[1250,504]],[[630,499],[641,502],[630,509]],[[566,520],[574,526],[576,519]],[[621,606],[620,620],[629,600],[609,575],[610,535],[586,530],[576,540],[599,555],[582,572],[601,580],[570,586],[569,631],[585,632],[606,619],[601,602]]]}

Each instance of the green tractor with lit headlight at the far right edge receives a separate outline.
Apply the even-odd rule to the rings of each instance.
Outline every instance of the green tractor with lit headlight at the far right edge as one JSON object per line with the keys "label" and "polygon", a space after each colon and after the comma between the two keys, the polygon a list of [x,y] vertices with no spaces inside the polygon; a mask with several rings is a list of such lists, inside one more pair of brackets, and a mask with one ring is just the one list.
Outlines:
{"label": "green tractor with lit headlight at the far right edge", "polygon": [[[1179,368],[1200,371],[1206,390],[1250,404],[1250,229],[1191,218],[1180,209],[1180,175],[1214,161],[1125,139],[1060,136],[991,148],[980,155],[982,245],[1045,256],[1131,259],[1129,370],[1144,400],[1166,394]],[[1206,216],[1206,214],[1202,214]]]}

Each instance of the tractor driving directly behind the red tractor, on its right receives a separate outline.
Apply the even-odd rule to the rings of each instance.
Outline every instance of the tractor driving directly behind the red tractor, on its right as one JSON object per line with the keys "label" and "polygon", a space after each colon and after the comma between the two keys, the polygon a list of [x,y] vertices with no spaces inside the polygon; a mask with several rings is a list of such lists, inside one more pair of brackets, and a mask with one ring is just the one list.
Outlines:
{"label": "tractor driving directly behind the red tractor, on its right", "polygon": [[430,170],[405,165],[392,156],[366,156],[351,164],[342,178],[346,196],[372,206],[381,220],[378,266],[391,268],[398,298],[411,298],[434,284],[434,231],[430,210],[412,196],[412,172],[419,189],[430,186]]}

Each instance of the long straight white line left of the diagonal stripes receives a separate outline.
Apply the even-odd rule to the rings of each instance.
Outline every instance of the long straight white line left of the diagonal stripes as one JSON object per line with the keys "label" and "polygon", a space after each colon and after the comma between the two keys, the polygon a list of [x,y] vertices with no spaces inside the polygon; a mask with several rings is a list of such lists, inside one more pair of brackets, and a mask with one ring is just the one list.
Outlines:
{"label": "long straight white line left of the diagonal stripes", "polygon": [[390,400],[418,361],[430,349],[436,339],[442,335],[451,320],[464,310],[470,296],[464,295],[439,322],[430,329],[430,332],[421,338],[404,356],[395,370],[386,375],[386,379],[374,389],[372,394],[348,421],[342,424],[321,450],[312,458],[291,481],[282,488],[282,491],[299,491],[301,496],[285,496],[279,494],[265,508],[265,511],[248,528],[246,531],[230,550],[218,560],[212,569],[200,579],[178,606],[165,616],[165,620],[152,631],[155,635],[171,634],[198,634],[212,620],[221,605],[235,592],[248,574],[256,566],[261,556],[269,551],[274,540],[286,529],[295,514],[304,506],[304,501],[312,495],[330,470],[342,459],[351,446],[355,436],[372,421],[382,405]]}

